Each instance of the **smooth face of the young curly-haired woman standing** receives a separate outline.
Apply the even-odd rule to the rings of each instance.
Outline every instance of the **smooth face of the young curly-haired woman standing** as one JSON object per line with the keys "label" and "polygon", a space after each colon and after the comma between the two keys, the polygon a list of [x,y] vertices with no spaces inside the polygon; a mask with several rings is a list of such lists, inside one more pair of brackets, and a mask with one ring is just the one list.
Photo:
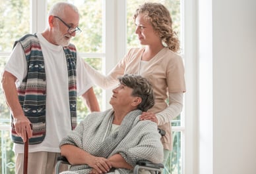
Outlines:
{"label": "smooth face of the young curly-haired woman standing", "polygon": [[137,33],[141,45],[152,45],[156,41],[160,41],[159,35],[154,31],[152,24],[144,18],[144,14],[138,14],[135,25],[135,33]]}

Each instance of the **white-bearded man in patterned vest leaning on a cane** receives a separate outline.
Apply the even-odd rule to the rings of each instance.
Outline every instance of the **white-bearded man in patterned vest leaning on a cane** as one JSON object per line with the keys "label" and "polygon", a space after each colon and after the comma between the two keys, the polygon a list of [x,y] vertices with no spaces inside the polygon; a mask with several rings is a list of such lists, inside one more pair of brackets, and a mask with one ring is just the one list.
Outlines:
{"label": "white-bearded man in patterned vest leaning on a cane", "polygon": [[12,114],[16,174],[23,173],[26,134],[28,174],[51,174],[59,142],[77,125],[77,96],[82,95],[90,111],[100,110],[92,81],[70,43],[81,31],[78,26],[77,7],[59,2],[49,11],[44,32],[24,35],[15,42],[2,83]]}

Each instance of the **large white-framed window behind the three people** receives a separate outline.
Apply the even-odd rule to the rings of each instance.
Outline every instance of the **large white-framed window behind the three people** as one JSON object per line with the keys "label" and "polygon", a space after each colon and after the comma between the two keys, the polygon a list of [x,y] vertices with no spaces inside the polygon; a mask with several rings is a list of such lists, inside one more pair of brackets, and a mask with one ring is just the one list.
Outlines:
{"label": "large white-framed window behind the three people", "polygon": [[[5,60],[11,54],[13,43],[24,33],[35,33],[44,30],[47,24],[49,7],[58,0],[10,0],[0,7],[2,22],[0,24],[0,72]],[[151,0],[152,1],[152,0]],[[156,0],[155,0],[156,1]],[[72,0],[80,11],[79,28],[82,33],[73,38],[80,55],[98,71],[106,74],[123,58],[129,47],[140,47],[135,35],[133,12],[144,0]],[[183,47],[183,0],[160,0],[170,9],[174,21],[174,30],[181,40],[181,56],[186,50]],[[45,8],[42,8],[45,7]],[[30,20],[31,19],[31,20]],[[0,89],[1,90],[1,89]],[[94,88],[102,110],[109,108],[108,100],[111,91]],[[79,98],[77,105],[79,120],[88,114],[88,110]],[[185,107],[184,107],[185,110]],[[169,173],[185,173],[185,112],[172,122],[174,131],[174,151],[170,158]],[[0,131],[1,131],[1,173],[14,173],[14,154],[9,139],[9,110],[3,95],[0,95]]]}

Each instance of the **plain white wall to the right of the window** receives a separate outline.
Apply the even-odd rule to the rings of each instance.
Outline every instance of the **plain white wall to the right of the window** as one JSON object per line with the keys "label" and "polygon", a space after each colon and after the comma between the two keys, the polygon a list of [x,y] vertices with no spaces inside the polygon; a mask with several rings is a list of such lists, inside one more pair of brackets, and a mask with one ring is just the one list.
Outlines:
{"label": "plain white wall to the right of the window", "polygon": [[[213,103],[204,99],[207,102],[202,104],[199,100],[198,173],[255,174],[256,1],[206,1],[205,7],[210,7],[205,11],[208,20],[199,15],[198,24],[199,31],[205,27],[209,33],[203,32],[204,38],[198,33],[198,60],[200,74],[208,75],[212,89],[199,91],[199,99],[209,92]],[[198,2],[200,14],[203,0]],[[212,21],[208,27],[203,23],[207,21]],[[210,62],[210,70],[203,67],[204,60]],[[199,79],[199,89],[208,86],[203,80]],[[208,112],[203,108],[208,108]]]}

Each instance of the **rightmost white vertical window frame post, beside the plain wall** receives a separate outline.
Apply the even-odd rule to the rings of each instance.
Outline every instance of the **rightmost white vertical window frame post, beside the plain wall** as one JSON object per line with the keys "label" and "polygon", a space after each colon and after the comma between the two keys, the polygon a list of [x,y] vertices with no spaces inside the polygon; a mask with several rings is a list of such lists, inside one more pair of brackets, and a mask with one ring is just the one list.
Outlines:
{"label": "rightmost white vertical window frame post, beside the plain wall", "polygon": [[187,92],[184,100],[184,153],[183,173],[197,173],[197,3],[195,1],[181,1],[183,7],[183,46],[185,62],[185,82]]}

